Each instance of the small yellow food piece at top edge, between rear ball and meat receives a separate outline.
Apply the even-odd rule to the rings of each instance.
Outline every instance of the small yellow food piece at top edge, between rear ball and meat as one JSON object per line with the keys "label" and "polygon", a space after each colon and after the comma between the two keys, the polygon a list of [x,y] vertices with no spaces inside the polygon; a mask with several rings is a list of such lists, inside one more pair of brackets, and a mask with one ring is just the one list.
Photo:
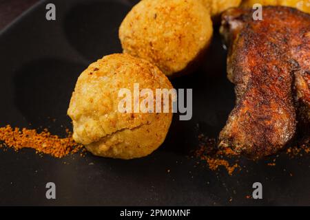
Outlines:
{"label": "small yellow food piece at top edge, between rear ball and meat", "polygon": [[200,0],[210,10],[212,17],[217,17],[228,8],[238,7],[242,0]]}

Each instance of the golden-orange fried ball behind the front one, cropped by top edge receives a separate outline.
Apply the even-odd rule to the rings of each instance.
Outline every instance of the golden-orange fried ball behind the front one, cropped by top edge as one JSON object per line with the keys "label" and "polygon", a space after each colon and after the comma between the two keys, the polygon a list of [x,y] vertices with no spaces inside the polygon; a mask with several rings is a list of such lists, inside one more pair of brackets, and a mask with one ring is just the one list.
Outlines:
{"label": "golden-orange fried ball behind the front one, cropped by top edge", "polygon": [[119,28],[123,52],[154,63],[167,76],[192,69],[211,41],[209,10],[197,0],[143,0]]}

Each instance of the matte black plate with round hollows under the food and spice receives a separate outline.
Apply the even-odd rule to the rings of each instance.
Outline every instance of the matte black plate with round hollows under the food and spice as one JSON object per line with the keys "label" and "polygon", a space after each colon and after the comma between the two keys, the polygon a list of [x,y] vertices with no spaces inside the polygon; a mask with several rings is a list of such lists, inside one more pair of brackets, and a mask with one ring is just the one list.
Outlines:
{"label": "matte black plate with round hollows under the food and spice", "polygon": [[[56,5],[56,21],[45,19],[50,2]],[[0,125],[49,127],[59,135],[62,125],[71,128],[66,111],[76,78],[92,61],[121,52],[118,25],[131,7],[132,1],[125,0],[43,1],[1,32]],[[0,150],[0,204],[310,205],[309,157],[281,154],[274,167],[266,165],[270,158],[242,159],[246,168],[233,176],[189,157],[197,135],[216,137],[234,107],[234,87],[226,78],[226,52],[217,32],[203,66],[172,80],[176,88],[193,89],[194,115],[190,121],[175,115],[158,151],[125,161]],[[56,184],[56,200],[45,198],[48,181]],[[262,183],[263,199],[247,199],[256,181]]]}

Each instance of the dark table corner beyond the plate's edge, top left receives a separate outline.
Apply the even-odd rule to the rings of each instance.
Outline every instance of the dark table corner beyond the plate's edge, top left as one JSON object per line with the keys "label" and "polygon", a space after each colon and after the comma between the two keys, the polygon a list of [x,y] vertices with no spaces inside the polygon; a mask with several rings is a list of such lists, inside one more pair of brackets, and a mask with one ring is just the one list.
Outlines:
{"label": "dark table corner beyond the plate's edge, top left", "polygon": [[0,30],[39,0],[0,0]]}

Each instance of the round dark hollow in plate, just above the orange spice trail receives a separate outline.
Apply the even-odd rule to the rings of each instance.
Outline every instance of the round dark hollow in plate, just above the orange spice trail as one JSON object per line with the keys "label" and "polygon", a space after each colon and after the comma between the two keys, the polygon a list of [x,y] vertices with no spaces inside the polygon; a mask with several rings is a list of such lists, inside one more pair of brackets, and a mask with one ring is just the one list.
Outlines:
{"label": "round dark hollow in plate, just above the orange spice trail", "polygon": [[84,68],[68,61],[45,59],[23,65],[15,73],[14,102],[33,128],[59,132],[64,130],[61,126],[71,126],[67,109]]}

